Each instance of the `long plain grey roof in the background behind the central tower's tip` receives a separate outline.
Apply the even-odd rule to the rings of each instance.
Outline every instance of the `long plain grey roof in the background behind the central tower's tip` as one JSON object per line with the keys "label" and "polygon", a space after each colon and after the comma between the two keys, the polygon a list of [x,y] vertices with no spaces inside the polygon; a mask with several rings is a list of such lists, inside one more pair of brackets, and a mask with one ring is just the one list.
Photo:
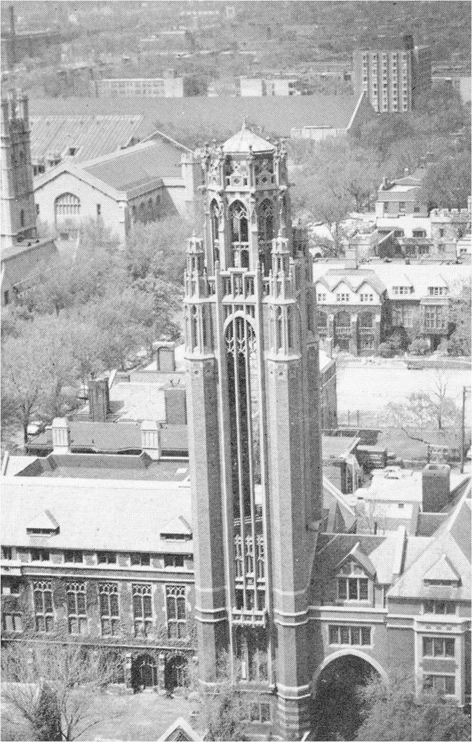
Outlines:
{"label": "long plain grey roof in the background behind the central tower's tip", "polygon": [[[243,98],[191,96],[188,98],[32,98],[31,116],[140,116],[134,136],[141,140],[162,125],[185,129],[187,122],[222,131],[238,131],[242,121],[254,123],[266,134],[290,137],[291,128],[304,126],[348,128],[359,95],[264,96]],[[203,142],[200,142],[203,143]],[[119,145],[113,147],[118,148]],[[110,151],[110,150],[108,150]],[[88,155],[92,157],[92,155]]]}

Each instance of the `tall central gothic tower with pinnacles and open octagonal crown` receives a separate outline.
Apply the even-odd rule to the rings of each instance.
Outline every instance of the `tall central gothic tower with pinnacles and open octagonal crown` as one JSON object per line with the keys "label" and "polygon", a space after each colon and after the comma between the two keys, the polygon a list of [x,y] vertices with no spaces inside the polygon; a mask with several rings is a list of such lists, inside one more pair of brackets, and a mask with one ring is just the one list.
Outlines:
{"label": "tall central gothic tower with pinnacles and open octagonal crown", "polygon": [[291,227],[283,145],[243,127],[202,164],[205,240],[189,240],[185,278],[200,680],[216,680],[227,653],[256,689],[254,717],[267,722],[269,704],[276,734],[296,740],[309,729],[322,509],[310,261]]}

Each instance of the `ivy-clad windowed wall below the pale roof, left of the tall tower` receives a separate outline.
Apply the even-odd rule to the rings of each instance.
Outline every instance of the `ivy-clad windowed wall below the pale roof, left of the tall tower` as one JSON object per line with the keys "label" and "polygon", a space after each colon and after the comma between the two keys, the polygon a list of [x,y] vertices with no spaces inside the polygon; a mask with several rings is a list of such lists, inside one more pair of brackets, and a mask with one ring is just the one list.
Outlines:
{"label": "ivy-clad windowed wall below the pale roof, left of the tall tower", "polygon": [[4,548],[3,639],[113,652],[116,682],[135,690],[183,686],[196,650],[193,557],[177,563],[170,554]]}

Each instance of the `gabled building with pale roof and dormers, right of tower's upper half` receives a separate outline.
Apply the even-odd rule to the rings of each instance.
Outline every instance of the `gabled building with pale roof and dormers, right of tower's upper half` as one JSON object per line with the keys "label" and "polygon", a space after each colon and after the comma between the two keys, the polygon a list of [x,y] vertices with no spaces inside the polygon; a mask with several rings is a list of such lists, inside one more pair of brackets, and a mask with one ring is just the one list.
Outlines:
{"label": "gabled building with pale roof and dormers, right of tower's upper half", "polygon": [[426,338],[436,349],[452,332],[451,299],[468,283],[467,265],[370,260],[322,261],[313,266],[318,329],[333,347],[373,355],[393,329]]}

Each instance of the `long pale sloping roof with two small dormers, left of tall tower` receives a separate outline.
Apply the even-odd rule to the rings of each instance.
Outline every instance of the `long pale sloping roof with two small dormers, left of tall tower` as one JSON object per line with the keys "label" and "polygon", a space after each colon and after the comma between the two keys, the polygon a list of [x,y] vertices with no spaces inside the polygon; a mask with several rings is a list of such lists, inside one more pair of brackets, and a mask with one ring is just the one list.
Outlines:
{"label": "long pale sloping roof with two small dormers, left of tall tower", "polygon": [[192,551],[191,542],[160,535],[170,519],[183,516],[191,522],[187,484],[97,480],[91,487],[90,479],[5,477],[2,490],[1,542],[6,545],[37,545],[39,537],[30,536],[27,525],[49,510],[59,533],[41,536],[47,548]]}

